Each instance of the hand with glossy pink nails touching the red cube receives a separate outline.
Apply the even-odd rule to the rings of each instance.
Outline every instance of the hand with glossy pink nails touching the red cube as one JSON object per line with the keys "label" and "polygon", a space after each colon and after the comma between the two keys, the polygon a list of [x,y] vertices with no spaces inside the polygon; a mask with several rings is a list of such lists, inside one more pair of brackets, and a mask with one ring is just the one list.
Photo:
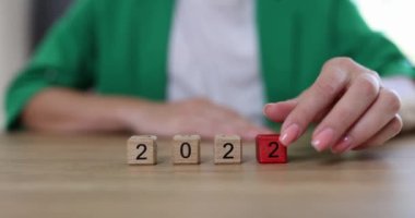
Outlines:
{"label": "hand with glossy pink nails touching the red cube", "polygon": [[312,146],[333,153],[381,145],[402,129],[399,96],[379,75],[348,58],[328,61],[315,84],[299,97],[269,104],[268,118],[284,122],[281,141],[295,142],[311,122]]}

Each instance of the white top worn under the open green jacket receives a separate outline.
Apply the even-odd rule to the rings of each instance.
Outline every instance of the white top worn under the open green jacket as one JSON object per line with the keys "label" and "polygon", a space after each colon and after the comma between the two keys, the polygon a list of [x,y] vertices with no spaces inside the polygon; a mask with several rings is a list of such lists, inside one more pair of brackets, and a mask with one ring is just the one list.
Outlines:
{"label": "white top worn under the open green jacket", "polygon": [[178,0],[168,99],[205,97],[262,122],[253,0]]}

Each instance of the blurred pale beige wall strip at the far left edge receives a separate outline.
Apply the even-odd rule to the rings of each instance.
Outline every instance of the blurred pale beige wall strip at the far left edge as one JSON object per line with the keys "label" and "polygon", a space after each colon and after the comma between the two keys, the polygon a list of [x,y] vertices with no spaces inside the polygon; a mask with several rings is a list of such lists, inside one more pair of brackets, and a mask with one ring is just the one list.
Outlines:
{"label": "blurred pale beige wall strip at the far left edge", "polygon": [[29,0],[0,0],[0,123],[4,122],[4,89],[27,57],[28,5]]}

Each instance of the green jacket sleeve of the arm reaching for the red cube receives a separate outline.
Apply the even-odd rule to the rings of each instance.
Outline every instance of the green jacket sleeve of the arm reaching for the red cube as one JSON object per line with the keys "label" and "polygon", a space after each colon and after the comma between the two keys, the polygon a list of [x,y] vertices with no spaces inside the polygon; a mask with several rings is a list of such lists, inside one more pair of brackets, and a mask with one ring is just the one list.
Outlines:
{"label": "green jacket sleeve of the arm reaching for the red cube", "polygon": [[399,48],[382,34],[371,31],[349,0],[337,0],[333,26],[337,53],[354,58],[382,76],[415,76],[415,70]]}

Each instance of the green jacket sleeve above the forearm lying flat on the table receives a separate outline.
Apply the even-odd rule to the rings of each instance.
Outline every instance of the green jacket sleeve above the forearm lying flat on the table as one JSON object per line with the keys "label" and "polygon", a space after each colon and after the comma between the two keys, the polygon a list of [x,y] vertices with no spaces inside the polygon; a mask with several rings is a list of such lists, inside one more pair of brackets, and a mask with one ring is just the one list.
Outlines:
{"label": "green jacket sleeve above the forearm lying flat on the table", "polygon": [[86,89],[92,84],[94,52],[93,1],[74,4],[54,25],[27,66],[11,83],[5,96],[7,129],[19,128],[25,105],[42,89],[60,86]]}

